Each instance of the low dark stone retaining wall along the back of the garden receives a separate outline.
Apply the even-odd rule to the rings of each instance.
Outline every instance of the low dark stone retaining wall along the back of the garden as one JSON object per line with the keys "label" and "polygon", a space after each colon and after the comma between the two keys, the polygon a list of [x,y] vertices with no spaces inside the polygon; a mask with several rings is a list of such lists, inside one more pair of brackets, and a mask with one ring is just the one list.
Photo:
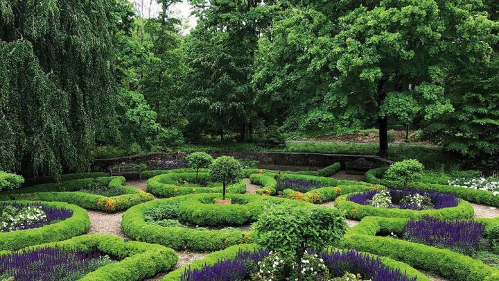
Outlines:
{"label": "low dark stone retaining wall along the back of the garden", "polygon": [[[271,169],[270,167],[286,166],[290,170],[302,169],[320,169],[334,162],[340,162],[344,169],[344,163],[364,157],[369,162],[374,163],[376,167],[384,167],[392,164],[392,161],[376,155],[347,155],[347,154],[322,154],[322,153],[292,153],[292,152],[221,152],[207,151],[213,157],[220,155],[230,155],[238,159],[259,160],[261,167]],[[131,155],[117,158],[96,159],[94,160],[94,171],[107,171],[107,167],[120,163],[145,163],[148,169],[175,169],[185,167],[185,156],[189,152],[159,152],[146,155]]]}

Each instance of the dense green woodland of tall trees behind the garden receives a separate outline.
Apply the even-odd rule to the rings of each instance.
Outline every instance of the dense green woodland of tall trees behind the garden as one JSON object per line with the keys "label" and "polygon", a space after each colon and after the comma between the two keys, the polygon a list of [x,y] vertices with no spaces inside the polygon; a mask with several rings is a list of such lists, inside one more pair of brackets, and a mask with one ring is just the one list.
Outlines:
{"label": "dense green woodland of tall trees behind the garden", "polygon": [[0,0],[0,170],[363,128],[499,165],[496,0],[158,1]]}

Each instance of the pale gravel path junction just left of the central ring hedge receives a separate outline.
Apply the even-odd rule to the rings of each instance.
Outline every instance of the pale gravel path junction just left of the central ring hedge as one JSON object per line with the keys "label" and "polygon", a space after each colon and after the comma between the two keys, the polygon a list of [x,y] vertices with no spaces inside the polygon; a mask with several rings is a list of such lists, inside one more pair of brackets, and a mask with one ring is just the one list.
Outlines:
{"label": "pale gravel path junction just left of the central ring hedge", "polygon": [[121,229],[121,215],[123,212],[112,214],[94,210],[87,210],[87,212],[90,216],[89,234],[102,233],[126,238],[125,233]]}

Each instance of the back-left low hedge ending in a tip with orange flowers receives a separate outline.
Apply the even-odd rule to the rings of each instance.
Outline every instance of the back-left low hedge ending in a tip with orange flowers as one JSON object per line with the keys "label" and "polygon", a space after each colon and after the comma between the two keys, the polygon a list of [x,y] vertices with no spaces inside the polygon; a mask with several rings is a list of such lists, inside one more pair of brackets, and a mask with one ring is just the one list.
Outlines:
{"label": "back-left low hedge ending in a tip with orange flowers", "polygon": [[[33,200],[33,201],[58,201],[84,207],[91,210],[102,210],[105,212],[116,212],[126,210],[134,205],[151,201],[152,194],[148,194],[135,187],[125,187],[125,178],[104,177],[104,178],[83,178],[78,180],[67,180],[65,182],[47,183],[34,185],[13,190],[11,193],[0,193],[0,201],[6,200]],[[109,187],[119,187],[125,194],[119,196],[102,196],[87,192],[78,191],[85,189],[89,185],[99,183]]]}

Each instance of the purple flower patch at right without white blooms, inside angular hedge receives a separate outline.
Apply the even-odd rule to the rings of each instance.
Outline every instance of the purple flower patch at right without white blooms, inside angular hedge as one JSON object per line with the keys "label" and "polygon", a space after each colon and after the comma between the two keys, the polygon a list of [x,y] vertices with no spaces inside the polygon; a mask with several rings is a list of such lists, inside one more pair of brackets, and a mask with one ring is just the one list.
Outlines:
{"label": "purple flower patch at right without white blooms, inside angular hedge", "polygon": [[441,221],[425,217],[409,221],[403,229],[403,238],[408,241],[465,253],[476,250],[483,236],[484,225],[477,221]]}

